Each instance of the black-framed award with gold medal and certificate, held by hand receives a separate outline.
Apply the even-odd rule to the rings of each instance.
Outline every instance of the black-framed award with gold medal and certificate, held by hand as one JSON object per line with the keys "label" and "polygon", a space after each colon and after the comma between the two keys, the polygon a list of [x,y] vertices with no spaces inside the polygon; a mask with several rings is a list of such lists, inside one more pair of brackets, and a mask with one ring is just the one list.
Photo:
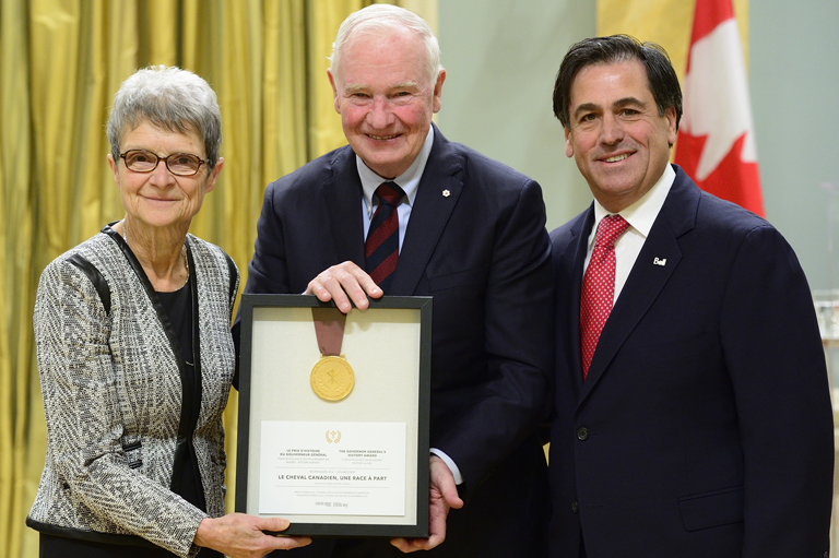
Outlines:
{"label": "black-framed award with gold medal and certificate, held by hand", "polygon": [[432,298],[240,307],[236,511],[288,535],[428,536]]}

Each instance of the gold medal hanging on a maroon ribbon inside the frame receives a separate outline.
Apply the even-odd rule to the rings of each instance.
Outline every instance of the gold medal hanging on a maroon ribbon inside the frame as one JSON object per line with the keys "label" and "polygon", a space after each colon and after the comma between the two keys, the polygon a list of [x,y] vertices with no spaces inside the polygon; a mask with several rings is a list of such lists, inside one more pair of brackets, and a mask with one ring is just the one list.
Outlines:
{"label": "gold medal hanging on a maroon ribbon inside the frame", "polygon": [[320,360],[315,363],[309,377],[311,391],[324,401],[341,401],[355,385],[353,367],[341,354],[346,314],[338,308],[312,308],[311,318],[320,349]]}

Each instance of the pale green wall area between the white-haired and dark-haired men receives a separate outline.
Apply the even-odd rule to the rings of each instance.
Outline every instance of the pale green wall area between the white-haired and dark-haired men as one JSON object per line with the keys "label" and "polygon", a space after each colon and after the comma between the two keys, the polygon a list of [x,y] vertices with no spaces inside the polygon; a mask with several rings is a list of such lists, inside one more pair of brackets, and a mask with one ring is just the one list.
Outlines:
{"label": "pale green wall area between the white-haired and dark-haired men", "polygon": [[439,0],[440,131],[536,179],[548,229],[591,202],[551,106],[565,52],[595,29],[590,1]]}

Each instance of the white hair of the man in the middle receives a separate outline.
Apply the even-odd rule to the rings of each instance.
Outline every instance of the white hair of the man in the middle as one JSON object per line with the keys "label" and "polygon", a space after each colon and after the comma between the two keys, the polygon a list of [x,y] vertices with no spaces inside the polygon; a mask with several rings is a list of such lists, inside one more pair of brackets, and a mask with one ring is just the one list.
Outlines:
{"label": "white hair of the man in the middle", "polygon": [[346,47],[357,36],[376,36],[386,32],[409,29],[420,36],[425,45],[425,63],[432,85],[442,70],[440,66],[440,45],[428,23],[410,10],[391,4],[371,4],[351,13],[341,24],[332,44],[330,57],[332,75],[338,80],[341,62]]}

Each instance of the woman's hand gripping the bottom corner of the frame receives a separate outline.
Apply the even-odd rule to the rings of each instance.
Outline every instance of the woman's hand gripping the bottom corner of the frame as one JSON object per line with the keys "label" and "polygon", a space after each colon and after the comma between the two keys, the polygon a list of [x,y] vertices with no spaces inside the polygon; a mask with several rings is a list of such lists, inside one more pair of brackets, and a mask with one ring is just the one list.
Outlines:
{"label": "woman's hand gripping the bottom corner of the frame", "polygon": [[203,519],[193,542],[231,558],[262,558],[273,550],[289,550],[311,543],[311,538],[305,536],[274,536],[264,533],[285,531],[288,525],[288,520],[283,518],[228,513],[221,518]]}

